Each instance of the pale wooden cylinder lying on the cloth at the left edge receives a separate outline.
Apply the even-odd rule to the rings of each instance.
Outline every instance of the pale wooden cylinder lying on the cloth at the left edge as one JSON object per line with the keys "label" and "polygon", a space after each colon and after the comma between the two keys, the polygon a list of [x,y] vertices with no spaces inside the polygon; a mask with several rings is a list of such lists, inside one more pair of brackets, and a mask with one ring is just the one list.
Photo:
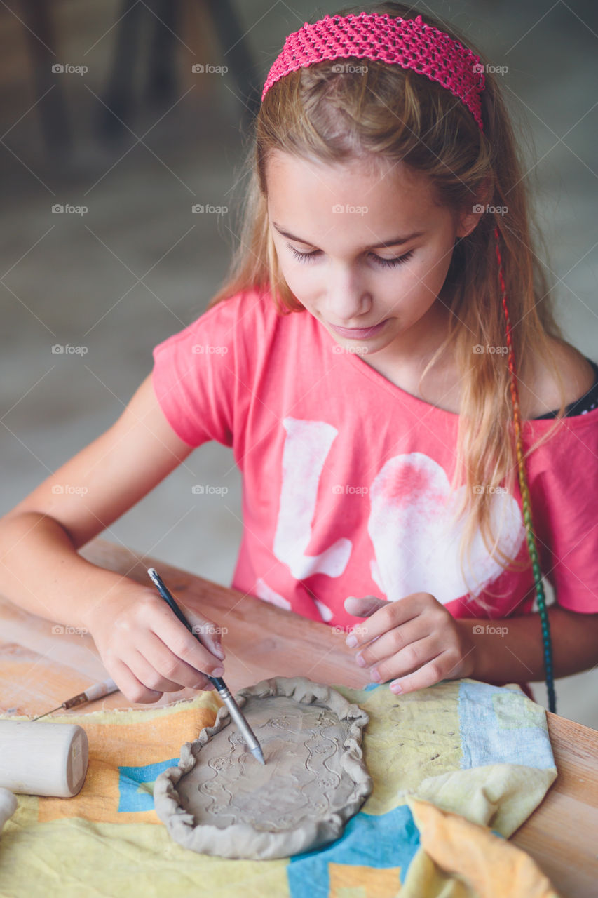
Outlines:
{"label": "pale wooden cylinder lying on the cloth at the left edge", "polygon": [[0,787],[11,792],[73,797],[84,784],[88,758],[82,726],[0,720]]}

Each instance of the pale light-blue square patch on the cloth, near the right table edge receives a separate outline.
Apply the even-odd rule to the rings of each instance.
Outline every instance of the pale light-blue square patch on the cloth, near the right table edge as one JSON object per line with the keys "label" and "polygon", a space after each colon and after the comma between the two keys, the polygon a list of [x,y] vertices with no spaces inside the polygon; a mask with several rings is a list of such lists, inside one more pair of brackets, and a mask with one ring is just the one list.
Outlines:
{"label": "pale light-blue square patch on the cloth, near the right table edge", "polygon": [[554,767],[545,719],[543,709],[519,690],[486,682],[460,683],[462,769],[485,764]]}

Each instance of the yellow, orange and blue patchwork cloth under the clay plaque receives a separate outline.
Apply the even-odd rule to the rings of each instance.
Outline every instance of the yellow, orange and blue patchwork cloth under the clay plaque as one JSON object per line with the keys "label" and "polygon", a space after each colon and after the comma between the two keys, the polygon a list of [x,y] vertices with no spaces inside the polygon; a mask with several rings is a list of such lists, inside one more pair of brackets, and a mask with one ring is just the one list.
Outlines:
{"label": "yellow, orange and blue patchwork cloth under the clay plaque", "polygon": [[[544,710],[517,686],[442,682],[395,696],[336,687],[370,716],[374,790],[339,840],[279,860],[185,850],[154,812],[152,784],[214,723],[212,692],[167,708],[51,718],[84,726],[90,762],[73,798],[17,796],[0,836],[3,898],[558,898],[506,841],[557,770]],[[13,718],[23,719],[23,718]]]}

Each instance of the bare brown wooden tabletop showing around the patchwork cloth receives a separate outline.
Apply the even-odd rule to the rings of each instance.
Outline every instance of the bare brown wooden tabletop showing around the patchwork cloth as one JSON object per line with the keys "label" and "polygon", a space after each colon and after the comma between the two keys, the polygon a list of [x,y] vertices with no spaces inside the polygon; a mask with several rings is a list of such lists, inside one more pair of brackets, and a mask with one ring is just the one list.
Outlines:
{"label": "bare brown wooden tabletop showing around the patchwork cloth", "polygon": [[[103,568],[147,585],[155,565],[182,603],[193,599],[208,618],[228,628],[224,636],[226,682],[232,691],[269,676],[303,675],[330,684],[361,688],[365,674],[345,640],[323,623],[308,621],[251,596],[162,561],[137,558],[110,542],[93,540],[81,551]],[[0,710],[40,714],[106,677],[89,635],[57,638],[52,623],[0,598]],[[8,665],[22,666],[18,682],[8,680]],[[14,673],[13,673],[14,677]],[[192,690],[165,694],[157,705],[191,697]],[[120,692],[87,706],[147,708],[132,705]],[[84,709],[76,709],[82,713]],[[548,714],[558,779],[512,841],[527,851],[550,877],[562,898],[594,898],[598,883],[598,731]]]}

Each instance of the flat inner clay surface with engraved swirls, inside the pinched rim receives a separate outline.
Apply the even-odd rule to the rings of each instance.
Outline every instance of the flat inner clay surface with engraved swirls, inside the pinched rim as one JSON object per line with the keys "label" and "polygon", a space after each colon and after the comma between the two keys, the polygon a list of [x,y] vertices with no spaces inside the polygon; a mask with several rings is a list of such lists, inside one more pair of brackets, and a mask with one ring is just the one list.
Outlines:
{"label": "flat inner clay surface with engraved swirls, inside the pinched rim", "polygon": [[251,823],[270,832],[339,811],[355,784],[340,764],[348,722],[330,710],[281,696],[243,706],[264,753],[262,767],[226,726],[179,782],[180,803],[197,823]]}

